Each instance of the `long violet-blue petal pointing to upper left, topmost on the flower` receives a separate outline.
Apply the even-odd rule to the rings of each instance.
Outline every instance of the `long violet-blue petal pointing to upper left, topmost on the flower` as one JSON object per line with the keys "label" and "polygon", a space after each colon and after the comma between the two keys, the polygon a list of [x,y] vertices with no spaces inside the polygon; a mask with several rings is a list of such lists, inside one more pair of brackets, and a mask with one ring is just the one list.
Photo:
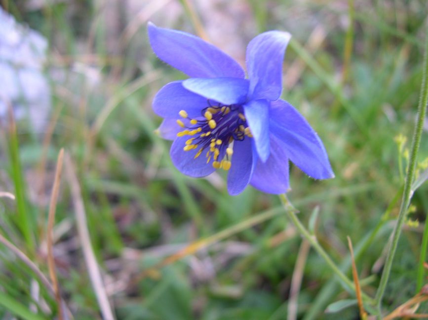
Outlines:
{"label": "long violet-blue petal pointing to upper left, topmost on the flower", "polygon": [[147,29],[157,57],[190,77],[245,77],[236,61],[195,35],[158,28],[150,22]]}

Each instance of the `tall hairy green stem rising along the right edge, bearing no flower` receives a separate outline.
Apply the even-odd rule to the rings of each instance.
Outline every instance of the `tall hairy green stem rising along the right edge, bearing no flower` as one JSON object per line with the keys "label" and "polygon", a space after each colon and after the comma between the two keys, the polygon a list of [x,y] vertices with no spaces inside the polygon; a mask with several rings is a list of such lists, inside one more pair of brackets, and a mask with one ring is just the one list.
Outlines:
{"label": "tall hairy green stem rising along the right edge, bearing no flower", "polygon": [[424,74],[422,78],[421,96],[420,96],[419,105],[418,105],[418,116],[416,119],[416,126],[415,126],[415,131],[414,131],[413,140],[412,140],[410,161],[409,161],[409,166],[407,168],[407,173],[406,173],[406,180],[404,184],[404,191],[403,191],[403,197],[401,200],[400,212],[398,214],[397,224],[395,225],[395,228],[392,233],[392,243],[388,250],[388,256],[385,262],[384,271],[382,272],[379,288],[378,288],[378,291],[376,292],[375,301],[376,301],[376,304],[378,305],[379,315],[381,314],[382,297],[384,296],[385,289],[387,287],[387,283],[389,279],[389,273],[391,272],[392,260],[394,258],[394,254],[397,249],[398,239],[400,238],[401,229],[406,218],[407,208],[409,207],[410,199],[412,197],[411,186],[412,186],[412,181],[415,174],[416,158],[419,151],[419,144],[421,142],[422,129],[424,126],[424,119],[425,119],[425,113],[426,113],[426,106],[428,102],[428,82],[427,82],[428,36],[426,39],[423,70],[424,70]]}

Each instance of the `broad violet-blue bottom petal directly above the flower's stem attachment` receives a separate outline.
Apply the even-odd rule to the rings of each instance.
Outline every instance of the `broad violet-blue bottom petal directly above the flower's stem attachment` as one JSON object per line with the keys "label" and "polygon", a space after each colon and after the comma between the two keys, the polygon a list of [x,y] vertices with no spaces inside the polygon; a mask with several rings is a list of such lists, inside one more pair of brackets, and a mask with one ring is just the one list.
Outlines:
{"label": "broad violet-blue bottom petal directly above the flower's stem attachment", "polygon": [[266,162],[257,161],[250,184],[263,192],[284,193],[289,190],[288,158],[285,150],[271,135],[271,155]]}

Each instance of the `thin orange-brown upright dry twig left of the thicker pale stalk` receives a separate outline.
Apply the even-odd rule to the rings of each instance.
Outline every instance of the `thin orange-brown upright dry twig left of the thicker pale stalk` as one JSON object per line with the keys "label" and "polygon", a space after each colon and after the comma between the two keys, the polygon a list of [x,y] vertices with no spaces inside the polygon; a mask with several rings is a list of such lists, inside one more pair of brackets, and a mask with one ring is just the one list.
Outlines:
{"label": "thin orange-brown upright dry twig left of the thicker pale stalk", "polygon": [[52,196],[50,198],[49,215],[47,220],[46,244],[47,244],[47,265],[49,268],[49,276],[52,281],[55,291],[55,299],[58,303],[58,317],[63,320],[63,310],[61,307],[61,294],[59,292],[58,279],[56,277],[55,258],[53,256],[53,225],[55,224],[56,203],[58,200],[59,186],[61,181],[62,162],[64,158],[64,149],[61,149],[58,154],[56,164],[55,180],[53,181]]}

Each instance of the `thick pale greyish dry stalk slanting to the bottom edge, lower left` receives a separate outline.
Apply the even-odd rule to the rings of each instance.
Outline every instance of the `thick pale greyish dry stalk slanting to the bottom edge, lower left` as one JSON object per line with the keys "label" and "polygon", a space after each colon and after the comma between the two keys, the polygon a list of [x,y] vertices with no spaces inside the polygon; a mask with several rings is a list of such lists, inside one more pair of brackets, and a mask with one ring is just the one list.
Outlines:
{"label": "thick pale greyish dry stalk slanting to the bottom edge, lower left", "polygon": [[66,153],[65,155],[65,170],[67,174],[67,180],[70,184],[70,189],[73,198],[73,204],[77,220],[78,234],[80,238],[80,244],[82,246],[83,256],[85,258],[86,266],[88,268],[89,278],[92,282],[92,287],[94,288],[95,295],[100,306],[100,311],[104,320],[114,320],[112,308],[107,296],[107,292],[104,288],[103,280],[101,277],[100,269],[98,268],[98,263],[95,258],[91,240],[89,237],[89,231],[87,229],[86,223],[86,213],[83,205],[83,200],[81,197],[80,186],[78,183],[78,178],[76,176],[76,171],[74,169],[73,162],[71,157]]}

